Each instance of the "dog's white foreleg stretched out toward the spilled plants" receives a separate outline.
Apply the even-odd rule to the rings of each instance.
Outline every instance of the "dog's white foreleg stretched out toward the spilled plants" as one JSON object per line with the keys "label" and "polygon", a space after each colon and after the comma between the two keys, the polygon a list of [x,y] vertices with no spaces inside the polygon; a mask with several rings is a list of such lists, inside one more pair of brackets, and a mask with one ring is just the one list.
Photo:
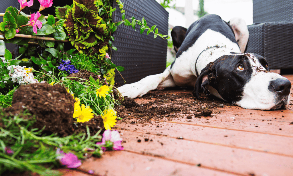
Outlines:
{"label": "dog's white foreleg stretched out toward the spilled plants", "polygon": [[147,76],[138,82],[125,84],[117,89],[123,97],[136,98],[143,96],[157,87],[175,87],[176,85],[171,76],[170,68],[169,66],[163,73]]}

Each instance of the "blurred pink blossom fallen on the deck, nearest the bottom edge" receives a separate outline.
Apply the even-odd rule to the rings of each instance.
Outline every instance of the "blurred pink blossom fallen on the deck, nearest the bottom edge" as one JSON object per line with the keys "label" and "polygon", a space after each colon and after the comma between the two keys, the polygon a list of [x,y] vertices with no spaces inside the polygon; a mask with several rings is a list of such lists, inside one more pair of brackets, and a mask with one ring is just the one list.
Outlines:
{"label": "blurred pink blossom fallen on the deck, nearest the bottom edge", "polygon": [[81,160],[79,160],[77,156],[71,152],[64,153],[60,150],[60,148],[57,148],[56,154],[58,155],[57,159],[59,159],[60,163],[68,168],[76,168],[81,166]]}

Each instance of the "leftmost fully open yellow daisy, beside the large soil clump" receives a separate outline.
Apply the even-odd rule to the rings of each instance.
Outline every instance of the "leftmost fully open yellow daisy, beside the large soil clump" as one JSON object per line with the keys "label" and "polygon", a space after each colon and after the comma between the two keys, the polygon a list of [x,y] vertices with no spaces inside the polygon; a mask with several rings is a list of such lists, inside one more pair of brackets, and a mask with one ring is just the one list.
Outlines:
{"label": "leftmost fully open yellow daisy, beside the large soil clump", "polygon": [[73,118],[77,118],[77,122],[87,122],[93,118],[93,113],[91,113],[92,111],[93,110],[90,106],[85,107],[84,104],[81,104],[81,107],[76,106],[76,109],[74,107]]}

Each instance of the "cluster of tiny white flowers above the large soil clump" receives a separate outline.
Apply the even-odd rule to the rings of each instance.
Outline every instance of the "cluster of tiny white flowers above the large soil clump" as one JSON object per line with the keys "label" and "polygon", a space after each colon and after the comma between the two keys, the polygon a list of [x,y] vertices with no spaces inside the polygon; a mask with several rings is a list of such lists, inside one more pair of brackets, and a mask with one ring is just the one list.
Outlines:
{"label": "cluster of tiny white flowers above the large soil clump", "polygon": [[34,79],[33,73],[30,72],[31,68],[26,68],[25,66],[11,65],[7,67],[9,76],[12,78],[13,82],[16,82],[20,85],[22,84],[31,84],[37,83],[38,80]]}

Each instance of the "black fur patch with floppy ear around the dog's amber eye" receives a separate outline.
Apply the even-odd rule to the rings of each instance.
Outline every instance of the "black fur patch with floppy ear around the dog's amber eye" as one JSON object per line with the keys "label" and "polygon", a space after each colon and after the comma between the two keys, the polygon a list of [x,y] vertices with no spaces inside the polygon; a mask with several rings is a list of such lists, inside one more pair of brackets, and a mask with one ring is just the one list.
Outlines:
{"label": "black fur patch with floppy ear around the dog's amber eye", "polygon": [[[243,70],[237,70],[242,65]],[[236,103],[243,96],[243,88],[251,79],[252,67],[246,55],[223,55],[214,62],[208,64],[200,73],[195,83],[193,95],[199,98],[199,85],[205,90],[208,84],[218,91],[221,97],[230,102]],[[202,78],[208,76],[202,82]]]}

